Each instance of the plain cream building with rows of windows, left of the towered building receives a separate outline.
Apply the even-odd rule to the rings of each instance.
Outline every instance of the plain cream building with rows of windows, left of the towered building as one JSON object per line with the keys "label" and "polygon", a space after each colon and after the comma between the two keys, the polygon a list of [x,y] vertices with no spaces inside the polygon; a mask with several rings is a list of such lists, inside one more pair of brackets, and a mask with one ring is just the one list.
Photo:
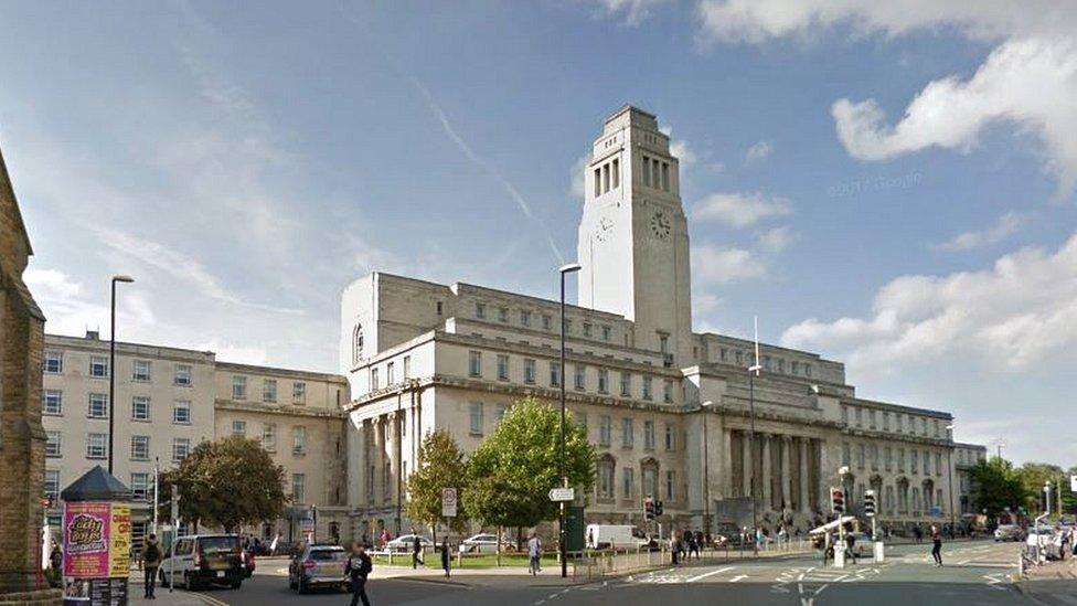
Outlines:
{"label": "plain cream building with rows of windows, left of the towered building", "polygon": [[[108,341],[45,336],[39,403],[45,428],[45,495],[58,525],[60,491],[108,458]],[[230,435],[262,442],[285,468],[292,500],[275,523],[247,532],[299,540],[301,521],[318,509],[318,535],[341,535],[344,503],[344,422],[341,376],[217,361],[213,352],[116,343],[113,475],[134,497],[135,541],[152,522],[154,467],[163,471],[199,443]],[[72,422],[75,423],[72,423]],[[166,521],[161,520],[160,523]]]}

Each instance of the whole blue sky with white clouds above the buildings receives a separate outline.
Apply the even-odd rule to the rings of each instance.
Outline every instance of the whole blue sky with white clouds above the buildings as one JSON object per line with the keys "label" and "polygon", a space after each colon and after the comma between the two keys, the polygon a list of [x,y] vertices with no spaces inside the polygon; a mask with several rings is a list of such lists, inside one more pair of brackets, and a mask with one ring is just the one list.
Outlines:
{"label": "whole blue sky with white clouds above the buildings", "polygon": [[335,372],[370,270],[553,298],[630,103],[681,159],[696,331],[758,316],[862,397],[1077,464],[1067,0],[10,1],[0,25],[50,332],[107,337],[122,273],[121,340]]}

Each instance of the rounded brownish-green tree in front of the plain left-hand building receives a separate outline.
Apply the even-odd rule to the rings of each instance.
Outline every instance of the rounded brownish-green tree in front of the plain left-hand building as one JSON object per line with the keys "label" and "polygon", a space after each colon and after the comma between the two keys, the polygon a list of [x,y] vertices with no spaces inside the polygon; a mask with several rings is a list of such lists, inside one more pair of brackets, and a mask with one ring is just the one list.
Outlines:
{"label": "rounded brownish-green tree in front of the plain left-hand building", "polygon": [[203,442],[179,467],[162,474],[160,485],[164,495],[172,485],[179,487],[184,520],[227,532],[275,520],[288,502],[284,467],[257,440],[243,436]]}

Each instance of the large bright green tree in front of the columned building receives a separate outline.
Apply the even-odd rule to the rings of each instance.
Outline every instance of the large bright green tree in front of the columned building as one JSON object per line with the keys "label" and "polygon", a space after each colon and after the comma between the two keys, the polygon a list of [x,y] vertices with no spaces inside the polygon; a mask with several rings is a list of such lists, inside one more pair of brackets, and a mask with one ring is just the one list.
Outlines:
{"label": "large bright green tree in front of the columned building", "polygon": [[[562,486],[561,413],[535,398],[515,402],[468,464],[468,511],[487,524],[533,527],[557,517],[551,488]],[[568,486],[590,489],[595,449],[584,427],[565,424]]]}

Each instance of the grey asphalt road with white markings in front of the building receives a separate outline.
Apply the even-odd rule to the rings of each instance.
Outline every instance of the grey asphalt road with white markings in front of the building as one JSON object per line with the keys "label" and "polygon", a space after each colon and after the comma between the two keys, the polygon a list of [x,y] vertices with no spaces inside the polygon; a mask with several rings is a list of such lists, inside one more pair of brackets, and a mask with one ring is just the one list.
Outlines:
{"label": "grey asphalt road with white markings in front of the building", "polygon": [[[824,567],[815,557],[737,561],[684,565],[573,587],[545,585],[538,577],[514,586],[471,586],[405,580],[374,581],[370,597],[375,605],[616,605],[674,606],[705,604],[775,604],[795,606],[977,606],[1026,605],[1031,602],[1006,584],[1019,544],[953,543],[943,549],[946,565],[930,563],[930,545],[887,550],[887,561],[862,560],[844,570]],[[270,604],[346,604],[348,596],[321,593],[299,596],[279,576],[256,575],[237,592],[205,592],[220,606]]]}

